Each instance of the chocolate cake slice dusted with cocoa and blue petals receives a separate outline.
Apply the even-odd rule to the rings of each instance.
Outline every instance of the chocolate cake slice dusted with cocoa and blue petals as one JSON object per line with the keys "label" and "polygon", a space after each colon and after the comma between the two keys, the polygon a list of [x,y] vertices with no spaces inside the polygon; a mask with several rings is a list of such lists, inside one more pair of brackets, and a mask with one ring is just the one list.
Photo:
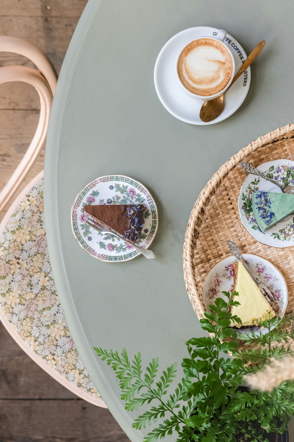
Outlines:
{"label": "chocolate cake slice dusted with cocoa and blue petals", "polygon": [[111,227],[123,238],[137,243],[144,225],[143,204],[84,206],[84,211],[102,224]]}

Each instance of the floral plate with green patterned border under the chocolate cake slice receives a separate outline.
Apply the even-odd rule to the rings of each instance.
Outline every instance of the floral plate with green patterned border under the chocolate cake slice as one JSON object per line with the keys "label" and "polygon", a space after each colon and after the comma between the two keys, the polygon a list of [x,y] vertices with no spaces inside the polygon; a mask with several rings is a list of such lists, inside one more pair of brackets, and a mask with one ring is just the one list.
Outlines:
{"label": "floral plate with green patterned border under the chocolate cake slice", "polygon": [[71,208],[71,227],[80,246],[101,261],[116,263],[129,261],[138,253],[130,244],[112,234],[93,230],[85,223],[83,207],[89,204],[144,204],[144,220],[138,244],[148,248],[158,227],[156,203],[143,184],[125,175],[105,175],[93,179],[79,192]]}

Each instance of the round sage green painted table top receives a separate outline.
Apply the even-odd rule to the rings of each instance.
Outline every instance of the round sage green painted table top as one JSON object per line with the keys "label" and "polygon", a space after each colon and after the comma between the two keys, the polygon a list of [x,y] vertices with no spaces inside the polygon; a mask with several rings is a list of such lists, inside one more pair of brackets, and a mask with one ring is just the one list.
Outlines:
{"label": "round sage green painted table top", "polygon": [[[165,369],[182,360],[185,340],[200,335],[183,281],[186,223],[201,189],[229,156],[293,120],[289,10],[290,0],[90,0],[64,59],[45,156],[49,254],[74,342],[132,441],[141,442],[147,430],[132,428],[136,414],[124,410],[115,373],[93,347],[140,350],[146,364],[160,356]],[[212,126],[174,118],[153,83],[164,43],[201,25],[227,30],[247,53],[262,39],[267,42],[253,65],[245,102]],[[74,239],[74,198],[86,183],[107,174],[138,179],[156,199],[156,259],[103,263]]]}

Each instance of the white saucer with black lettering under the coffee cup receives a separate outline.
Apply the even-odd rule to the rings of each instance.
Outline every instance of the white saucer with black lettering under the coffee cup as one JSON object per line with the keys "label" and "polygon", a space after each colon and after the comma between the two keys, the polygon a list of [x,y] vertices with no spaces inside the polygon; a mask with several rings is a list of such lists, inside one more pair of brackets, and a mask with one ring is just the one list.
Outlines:
{"label": "white saucer with black lettering under the coffee cup", "polygon": [[[186,123],[205,125],[225,120],[230,117],[231,114],[234,114],[238,107],[241,106],[249,90],[251,79],[250,67],[245,71],[247,73],[244,72],[227,91],[223,113],[208,123],[201,121],[199,117],[203,101],[189,97],[182,91],[175,74],[175,58],[181,48],[185,46],[185,43],[201,36],[213,37],[213,32],[216,30],[217,28],[207,26],[197,26],[182,30],[165,43],[156,59],[154,84],[157,95],[170,114]],[[229,46],[234,53],[237,72],[242,65],[240,55],[244,57],[243,60],[247,58],[247,55],[242,46],[229,34],[227,34],[224,43]],[[240,54],[238,51],[240,51]]]}

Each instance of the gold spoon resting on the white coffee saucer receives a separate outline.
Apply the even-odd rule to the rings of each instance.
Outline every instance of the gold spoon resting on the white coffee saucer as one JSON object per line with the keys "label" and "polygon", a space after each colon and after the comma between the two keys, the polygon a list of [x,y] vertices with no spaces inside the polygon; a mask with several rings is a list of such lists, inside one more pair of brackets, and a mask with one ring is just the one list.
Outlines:
{"label": "gold spoon resting on the white coffee saucer", "polygon": [[233,81],[231,82],[230,86],[227,88],[226,91],[223,92],[222,95],[219,95],[218,97],[205,101],[202,104],[202,107],[200,109],[200,118],[205,123],[208,123],[208,121],[215,120],[222,112],[224,108],[224,95],[225,93],[231,88],[231,85],[234,84],[234,82],[239,78],[239,76],[246,71],[248,66],[251,65],[251,63],[256,59],[257,55],[261,53],[262,48],[265,45],[265,40],[262,40],[262,42],[258,43],[257,46],[253,49],[251,53],[249,53],[248,57],[242,64],[241,68],[238,70],[236,75],[233,78]]}

